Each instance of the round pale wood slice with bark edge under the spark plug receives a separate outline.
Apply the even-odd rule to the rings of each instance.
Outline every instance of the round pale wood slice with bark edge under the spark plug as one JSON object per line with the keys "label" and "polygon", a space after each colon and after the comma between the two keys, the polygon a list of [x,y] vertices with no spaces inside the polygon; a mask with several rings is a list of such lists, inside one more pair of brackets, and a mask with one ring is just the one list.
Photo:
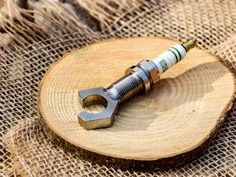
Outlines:
{"label": "round pale wood slice with bark edge under the spark plug", "polygon": [[197,48],[161,75],[149,93],[121,105],[112,127],[88,131],[78,124],[79,90],[106,88],[128,67],[176,43],[117,39],[63,56],[41,83],[39,110],[47,131],[62,144],[115,159],[179,165],[195,157],[222,124],[235,93],[233,74]]}

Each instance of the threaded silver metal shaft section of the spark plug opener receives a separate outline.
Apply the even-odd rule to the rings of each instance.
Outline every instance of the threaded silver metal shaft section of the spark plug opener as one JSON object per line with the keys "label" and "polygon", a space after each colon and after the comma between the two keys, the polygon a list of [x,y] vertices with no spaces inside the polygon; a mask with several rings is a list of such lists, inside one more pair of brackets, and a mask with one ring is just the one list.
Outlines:
{"label": "threaded silver metal shaft section of the spark plug opener", "polygon": [[106,89],[112,99],[120,103],[127,101],[144,90],[143,81],[135,73],[128,73]]}

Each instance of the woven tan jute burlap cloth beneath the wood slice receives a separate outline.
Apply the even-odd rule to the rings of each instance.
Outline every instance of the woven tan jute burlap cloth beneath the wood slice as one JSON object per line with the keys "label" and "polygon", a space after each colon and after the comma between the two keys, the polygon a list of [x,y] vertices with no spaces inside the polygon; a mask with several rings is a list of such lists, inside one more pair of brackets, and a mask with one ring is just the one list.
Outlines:
{"label": "woven tan jute burlap cloth beneath the wood slice", "polygon": [[[64,53],[91,43],[134,36],[185,40],[214,53],[236,72],[236,1],[132,0],[8,2],[1,31],[11,40],[0,53],[0,170],[3,176],[236,176],[236,105],[209,148],[175,169],[121,170],[66,152],[43,133],[38,86]],[[77,5],[77,6],[76,6]]]}

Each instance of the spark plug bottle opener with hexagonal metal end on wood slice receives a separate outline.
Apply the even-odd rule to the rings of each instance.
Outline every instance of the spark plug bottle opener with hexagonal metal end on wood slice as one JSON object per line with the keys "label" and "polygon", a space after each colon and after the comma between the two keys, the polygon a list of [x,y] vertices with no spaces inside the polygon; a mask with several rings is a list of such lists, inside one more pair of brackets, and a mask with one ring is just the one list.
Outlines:
{"label": "spark plug bottle opener with hexagonal metal end on wood slice", "polygon": [[145,93],[155,84],[160,74],[179,62],[186,53],[196,45],[195,39],[177,44],[155,57],[152,61],[142,60],[130,67],[125,76],[111,84],[108,88],[92,88],[79,91],[82,107],[102,104],[105,110],[99,113],[82,111],[79,113],[79,124],[87,129],[110,127],[119,104],[138,93]]}

